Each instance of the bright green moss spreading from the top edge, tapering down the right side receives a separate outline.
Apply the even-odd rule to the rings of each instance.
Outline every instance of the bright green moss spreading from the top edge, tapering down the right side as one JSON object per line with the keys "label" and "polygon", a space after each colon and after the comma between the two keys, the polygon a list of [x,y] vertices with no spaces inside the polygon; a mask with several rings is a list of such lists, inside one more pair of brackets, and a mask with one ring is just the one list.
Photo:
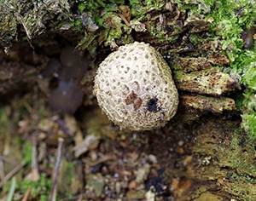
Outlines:
{"label": "bright green moss spreading from the top edge, tapering down the right side", "polygon": [[[174,0],[179,9],[189,9],[190,14],[204,14],[206,20],[212,19],[207,41],[221,45],[222,52],[230,59],[231,69],[240,78],[245,89],[237,95],[237,102],[242,113],[242,126],[247,130],[250,139],[256,139],[256,45],[246,49],[241,39],[245,29],[255,26],[256,3],[253,0]],[[254,33],[255,34],[255,33]],[[196,36],[196,35],[195,35]],[[189,37],[191,43],[197,43],[196,37]],[[200,38],[199,38],[200,40]],[[237,92],[239,93],[239,92]]]}

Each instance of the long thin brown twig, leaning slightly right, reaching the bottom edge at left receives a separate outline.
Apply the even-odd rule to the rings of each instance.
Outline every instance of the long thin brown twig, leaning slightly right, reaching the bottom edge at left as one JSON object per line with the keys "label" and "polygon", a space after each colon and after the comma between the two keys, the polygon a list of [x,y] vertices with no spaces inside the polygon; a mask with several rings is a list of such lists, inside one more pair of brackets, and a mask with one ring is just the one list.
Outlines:
{"label": "long thin brown twig, leaning slightly right, reaching the bottom edge at left", "polygon": [[63,146],[63,138],[58,139],[58,151],[57,151],[57,159],[55,164],[55,171],[53,175],[53,182],[50,192],[49,201],[55,201],[57,196],[57,187],[58,187],[58,172],[61,164],[61,155],[62,155],[62,146]]}

